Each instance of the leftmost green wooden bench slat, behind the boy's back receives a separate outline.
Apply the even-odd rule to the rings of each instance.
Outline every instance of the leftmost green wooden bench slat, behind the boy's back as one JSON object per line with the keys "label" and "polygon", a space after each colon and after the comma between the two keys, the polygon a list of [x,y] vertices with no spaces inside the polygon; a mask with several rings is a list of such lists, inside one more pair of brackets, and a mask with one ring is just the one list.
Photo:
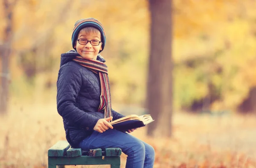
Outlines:
{"label": "leftmost green wooden bench slat, behind the boy's back", "polygon": [[66,140],[60,140],[49,148],[48,157],[62,157],[66,154],[68,148],[70,148],[70,144]]}

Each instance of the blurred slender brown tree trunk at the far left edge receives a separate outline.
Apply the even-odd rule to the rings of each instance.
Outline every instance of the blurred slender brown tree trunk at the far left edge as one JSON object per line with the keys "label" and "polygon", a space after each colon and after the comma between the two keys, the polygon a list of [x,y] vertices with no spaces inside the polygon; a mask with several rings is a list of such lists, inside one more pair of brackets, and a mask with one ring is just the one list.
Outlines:
{"label": "blurred slender brown tree trunk at the far left edge", "polygon": [[1,88],[0,88],[0,113],[6,113],[7,100],[9,97],[9,63],[12,45],[12,28],[13,28],[13,8],[17,0],[9,2],[9,0],[2,0],[4,6],[4,17],[6,20],[6,27],[4,29],[3,45],[0,45],[2,73],[1,73]]}

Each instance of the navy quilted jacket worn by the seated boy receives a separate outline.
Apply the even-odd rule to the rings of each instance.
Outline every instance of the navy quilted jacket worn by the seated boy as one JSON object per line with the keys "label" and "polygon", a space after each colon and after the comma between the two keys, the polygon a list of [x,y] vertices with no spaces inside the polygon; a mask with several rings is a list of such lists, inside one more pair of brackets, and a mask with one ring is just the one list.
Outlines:
{"label": "navy quilted jacket worn by the seated boy", "polygon": [[[97,121],[104,118],[103,113],[97,112],[101,93],[99,75],[73,62],[78,55],[75,50],[61,54],[57,80],[57,110],[72,147],[77,147],[81,140],[90,136]],[[105,62],[100,55],[97,60]],[[124,117],[113,109],[112,115],[113,120]]]}

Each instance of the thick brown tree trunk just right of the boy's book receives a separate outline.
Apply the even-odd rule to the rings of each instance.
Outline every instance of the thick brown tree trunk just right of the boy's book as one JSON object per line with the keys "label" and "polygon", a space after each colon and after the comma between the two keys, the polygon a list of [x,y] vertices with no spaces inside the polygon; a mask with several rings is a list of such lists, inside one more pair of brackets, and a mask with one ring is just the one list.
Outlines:
{"label": "thick brown tree trunk just right of the boy's book", "polygon": [[147,106],[155,120],[148,135],[172,135],[172,0],[149,0],[151,46]]}

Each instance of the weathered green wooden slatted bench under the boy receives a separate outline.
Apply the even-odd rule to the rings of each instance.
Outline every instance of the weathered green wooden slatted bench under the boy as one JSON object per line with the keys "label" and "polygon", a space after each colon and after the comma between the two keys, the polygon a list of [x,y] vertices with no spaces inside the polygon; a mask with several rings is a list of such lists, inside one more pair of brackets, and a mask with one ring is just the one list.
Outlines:
{"label": "weathered green wooden slatted bench under the boy", "polygon": [[81,148],[71,148],[66,140],[58,141],[48,150],[48,168],[57,165],[111,165],[120,168],[120,148],[101,148],[82,151]]}

